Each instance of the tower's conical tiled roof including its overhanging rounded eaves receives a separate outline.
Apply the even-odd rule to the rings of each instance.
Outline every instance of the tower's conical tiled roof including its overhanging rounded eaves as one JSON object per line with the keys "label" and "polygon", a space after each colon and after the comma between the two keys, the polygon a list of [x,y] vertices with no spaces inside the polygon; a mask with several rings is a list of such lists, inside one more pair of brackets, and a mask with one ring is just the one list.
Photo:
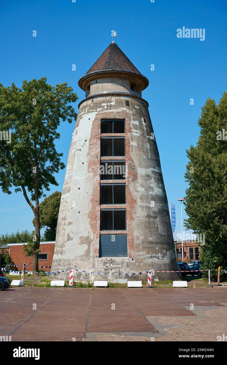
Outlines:
{"label": "tower's conical tiled roof including its overhanging rounded eaves", "polygon": [[94,65],[79,79],[78,85],[82,90],[86,91],[91,81],[103,79],[104,77],[130,78],[134,80],[135,85],[141,91],[148,87],[149,84],[148,79],[140,73],[114,42],[110,43]]}

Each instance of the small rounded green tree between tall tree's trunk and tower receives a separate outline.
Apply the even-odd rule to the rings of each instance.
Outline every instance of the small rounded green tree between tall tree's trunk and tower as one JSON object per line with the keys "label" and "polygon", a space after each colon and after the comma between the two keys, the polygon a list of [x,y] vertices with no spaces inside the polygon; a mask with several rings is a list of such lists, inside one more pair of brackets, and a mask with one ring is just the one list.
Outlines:
{"label": "small rounded green tree between tall tree's trunk and tower", "polygon": [[[55,241],[61,196],[62,193],[55,191],[39,205],[40,228],[46,227],[44,231],[44,239],[46,241]],[[35,219],[33,219],[32,223],[35,226]]]}

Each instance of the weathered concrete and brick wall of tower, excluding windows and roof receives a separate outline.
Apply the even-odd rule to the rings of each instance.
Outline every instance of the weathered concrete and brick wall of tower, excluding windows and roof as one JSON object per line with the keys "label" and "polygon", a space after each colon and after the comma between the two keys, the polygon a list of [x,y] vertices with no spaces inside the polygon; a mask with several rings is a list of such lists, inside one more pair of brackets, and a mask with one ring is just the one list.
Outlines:
{"label": "weathered concrete and brick wall of tower, excluding windows and roof", "polygon": [[[81,103],[69,152],[52,271],[106,272],[105,276],[78,273],[75,280],[108,278],[122,282],[125,277],[113,274],[177,270],[167,197],[147,103],[133,95],[114,95],[116,80],[113,81],[105,84],[107,96],[85,99]],[[124,84],[124,80],[119,84]],[[101,158],[102,119],[125,119],[125,134],[118,137],[125,137],[126,146],[126,231],[100,232],[100,210],[114,207],[100,206],[100,161],[122,160],[122,157]],[[122,183],[122,180],[114,180],[114,183]],[[126,233],[128,257],[100,258],[99,234],[104,233]],[[68,273],[59,275],[67,276]],[[176,276],[174,273],[155,275],[159,280]],[[141,277],[146,280],[147,274]],[[131,278],[138,280],[137,276]]]}

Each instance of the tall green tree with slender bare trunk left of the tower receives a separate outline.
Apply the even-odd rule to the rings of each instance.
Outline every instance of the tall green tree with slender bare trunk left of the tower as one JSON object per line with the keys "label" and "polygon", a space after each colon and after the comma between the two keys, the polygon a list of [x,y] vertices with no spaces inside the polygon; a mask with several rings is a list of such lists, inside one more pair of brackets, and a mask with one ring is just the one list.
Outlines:
{"label": "tall green tree with slender bare trunk left of the tower", "polygon": [[[60,120],[71,123],[77,114],[70,103],[78,99],[67,83],[51,86],[45,77],[15,84],[0,84],[0,187],[4,193],[22,191],[34,213],[33,271],[38,271],[40,243],[39,200],[58,185],[54,174],[64,169],[55,148]],[[30,196],[29,196],[30,195]]]}

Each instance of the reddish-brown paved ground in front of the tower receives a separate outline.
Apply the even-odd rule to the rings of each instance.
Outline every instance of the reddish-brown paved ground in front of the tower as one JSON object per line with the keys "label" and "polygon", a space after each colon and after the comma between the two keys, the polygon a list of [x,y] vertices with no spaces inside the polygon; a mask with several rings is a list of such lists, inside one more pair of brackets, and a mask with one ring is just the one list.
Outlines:
{"label": "reddish-brown paved ground in front of the tower", "polygon": [[11,288],[0,313],[12,341],[217,341],[227,287]]}

